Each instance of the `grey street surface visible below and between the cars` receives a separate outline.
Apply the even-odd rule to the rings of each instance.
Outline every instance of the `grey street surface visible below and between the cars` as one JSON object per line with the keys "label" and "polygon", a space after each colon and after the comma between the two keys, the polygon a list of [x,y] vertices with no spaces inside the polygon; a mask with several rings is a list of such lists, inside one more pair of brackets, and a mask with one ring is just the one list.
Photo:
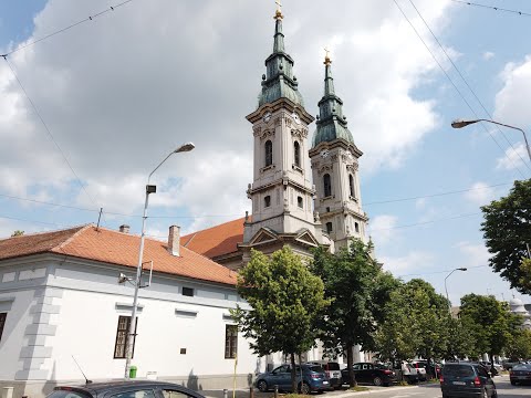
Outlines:
{"label": "grey street surface visible below and between the cars", "polygon": [[[494,377],[494,384],[498,390],[499,398],[517,398],[530,397],[531,386],[511,386],[509,376]],[[356,397],[372,397],[372,398],[441,398],[440,387],[438,384],[426,384],[419,386],[393,386],[393,387],[375,387],[366,386],[368,391],[354,392],[347,389],[327,391],[324,394],[312,394],[310,398],[356,398]],[[216,391],[200,391],[206,397],[223,398],[222,390]],[[249,390],[237,390],[236,398],[249,398]],[[281,395],[279,395],[281,397]],[[254,398],[272,398],[273,392],[260,392],[254,390]],[[232,398],[232,390],[228,391],[228,398]]]}

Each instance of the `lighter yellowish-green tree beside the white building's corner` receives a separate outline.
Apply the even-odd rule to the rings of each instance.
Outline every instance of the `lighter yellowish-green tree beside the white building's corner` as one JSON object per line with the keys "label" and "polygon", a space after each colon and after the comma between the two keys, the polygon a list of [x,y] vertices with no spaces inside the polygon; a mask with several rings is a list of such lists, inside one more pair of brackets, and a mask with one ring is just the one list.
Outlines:
{"label": "lighter yellowish-green tree beside the white building's corner", "polygon": [[292,390],[296,391],[295,354],[314,345],[316,320],[329,305],[323,282],[284,247],[270,258],[252,250],[251,260],[239,272],[237,290],[251,306],[232,312],[249,346],[260,356],[290,354]]}

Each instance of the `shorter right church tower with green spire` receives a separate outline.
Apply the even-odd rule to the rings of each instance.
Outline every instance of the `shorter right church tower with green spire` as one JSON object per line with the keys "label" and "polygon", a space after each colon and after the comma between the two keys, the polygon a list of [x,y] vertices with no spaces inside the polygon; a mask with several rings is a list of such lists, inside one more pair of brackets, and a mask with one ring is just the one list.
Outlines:
{"label": "shorter right church tower with green spire", "polygon": [[316,187],[315,210],[323,231],[335,249],[348,247],[348,240],[365,239],[368,221],[362,210],[358,159],[363,153],[354,144],[343,115],[343,101],[335,95],[332,61],[324,60],[324,95],[319,102],[316,130],[310,158]]}

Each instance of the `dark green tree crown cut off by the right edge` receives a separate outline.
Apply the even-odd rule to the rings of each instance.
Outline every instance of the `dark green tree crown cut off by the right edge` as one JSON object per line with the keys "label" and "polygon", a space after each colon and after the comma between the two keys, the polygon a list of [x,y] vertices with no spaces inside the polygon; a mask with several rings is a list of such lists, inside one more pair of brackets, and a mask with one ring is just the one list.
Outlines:
{"label": "dark green tree crown cut off by the right edge", "polygon": [[522,259],[529,254],[527,244],[531,244],[531,180],[514,181],[507,197],[481,207],[481,230],[492,254],[490,266],[511,287],[531,294],[530,273],[525,275],[521,268]]}

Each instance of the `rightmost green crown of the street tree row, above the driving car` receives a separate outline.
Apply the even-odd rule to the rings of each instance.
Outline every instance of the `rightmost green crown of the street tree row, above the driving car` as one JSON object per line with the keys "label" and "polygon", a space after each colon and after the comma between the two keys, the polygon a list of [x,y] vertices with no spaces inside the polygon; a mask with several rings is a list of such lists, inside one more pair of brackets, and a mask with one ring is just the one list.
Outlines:
{"label": "rightmost green crown of the street tree row, above the driving car", "polygon": [[501,355],[522,325],[521,317],[512,314],[507,303],[499,302],[492,295],[462,296],[459,315],[473,338],[473,357],[483,353]]}

